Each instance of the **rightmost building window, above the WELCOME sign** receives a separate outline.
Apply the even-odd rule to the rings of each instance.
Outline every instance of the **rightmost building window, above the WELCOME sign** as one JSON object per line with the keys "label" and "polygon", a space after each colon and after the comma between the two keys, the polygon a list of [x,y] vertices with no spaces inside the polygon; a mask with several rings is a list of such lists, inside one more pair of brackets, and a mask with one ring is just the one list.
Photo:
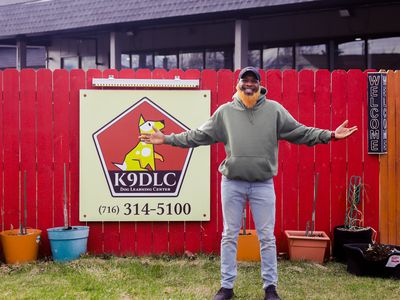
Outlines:
{"label": "rightmost building window, above the WELCOME sign", "polygon": [[376,70],[400,68],[400,37],[368,40],[368,67]]}

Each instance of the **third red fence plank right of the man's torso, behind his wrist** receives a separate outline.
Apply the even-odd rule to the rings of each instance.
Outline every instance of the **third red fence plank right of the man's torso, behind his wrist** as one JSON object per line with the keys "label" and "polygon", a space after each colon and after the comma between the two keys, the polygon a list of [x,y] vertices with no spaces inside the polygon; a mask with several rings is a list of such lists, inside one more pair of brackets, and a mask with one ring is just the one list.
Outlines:
{"label": "third red fence plank right of the man's torso, behind his wrist", "polygon": [[[315,126],[331,128],[331,74],[328,70],[318,70],[315,73]],[[315,228],[331,232],[331,145],[316,146],[315,172],[319,173],[318,204],[316,208]]]}

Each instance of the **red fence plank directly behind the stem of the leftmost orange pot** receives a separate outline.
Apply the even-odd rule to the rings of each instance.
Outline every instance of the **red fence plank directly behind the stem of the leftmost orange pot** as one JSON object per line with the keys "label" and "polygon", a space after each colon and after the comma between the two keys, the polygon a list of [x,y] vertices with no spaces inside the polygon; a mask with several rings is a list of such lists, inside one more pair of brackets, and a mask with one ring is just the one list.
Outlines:
{"label": "red fence plank directly behind the stem of the leftmost orange pot", "polygon": [[[20,72],[21,124],[21,198],[24,202],[24,172],[26,171],[27,226],[37,228],[36,218],[36,73],[32,69]],[[22,204],[22,208],[23,208]],[[23,218],[23,210],[21,211]]]}

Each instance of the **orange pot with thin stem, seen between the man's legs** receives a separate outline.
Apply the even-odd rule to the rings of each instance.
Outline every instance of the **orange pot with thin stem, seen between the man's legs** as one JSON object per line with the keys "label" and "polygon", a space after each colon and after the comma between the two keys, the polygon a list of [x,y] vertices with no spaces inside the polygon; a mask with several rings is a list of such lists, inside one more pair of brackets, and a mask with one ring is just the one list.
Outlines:
{"label": "orange pot with thin stem, seen between the man's legs", "polygon": [[246,209],[243,212],[243,230],[238,237],[238,261],[260,261],[260,242],[256,230],[246,230]]}

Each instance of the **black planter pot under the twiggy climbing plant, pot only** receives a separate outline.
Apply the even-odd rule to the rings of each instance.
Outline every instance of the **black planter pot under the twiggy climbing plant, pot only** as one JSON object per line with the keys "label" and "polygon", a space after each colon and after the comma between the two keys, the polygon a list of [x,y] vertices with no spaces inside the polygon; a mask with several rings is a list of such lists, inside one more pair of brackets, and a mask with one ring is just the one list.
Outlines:
{"label": "black planter pot under the twiggy climbing plant, pot only", "polygon": [[346,262],[346,252],[343,248],[344,244],[371,244],[373,239],[375,239],[375,234],[375,230],[371,227],[349,230],[343,225],[336,226],[333,230],[333,257],[337,261]]}

